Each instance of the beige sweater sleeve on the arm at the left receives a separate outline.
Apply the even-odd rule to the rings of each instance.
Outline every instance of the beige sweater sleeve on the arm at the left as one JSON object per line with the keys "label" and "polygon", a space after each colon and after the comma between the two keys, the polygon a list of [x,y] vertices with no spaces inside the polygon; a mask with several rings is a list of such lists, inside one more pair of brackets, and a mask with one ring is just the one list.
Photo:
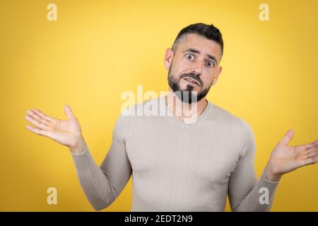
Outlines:
{"label": "beige sweater sleeve on the arm at the left", "polygon": [[95,210],[110,206],[131,176],[125,148],[128,126],[129,117],[120,115],[114,126],[112,145],[100,167],[90,155],[88,145],[81,154],[72,154],[81,187]]}

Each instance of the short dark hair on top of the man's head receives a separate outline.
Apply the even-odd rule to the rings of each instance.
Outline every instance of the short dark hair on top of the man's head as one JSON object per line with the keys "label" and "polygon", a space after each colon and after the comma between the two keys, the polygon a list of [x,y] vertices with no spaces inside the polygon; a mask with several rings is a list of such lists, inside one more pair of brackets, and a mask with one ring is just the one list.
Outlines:
{"label": "short dark hair on top of the man's head", "polygon": [[221,57],[223,55],[223,38],[220,30],[216,28],[213,24],[207,25],[205,23],[194,23],[189,25],[182,30],[180,30],[179,34],[175,38],[175,42],[172,44],[172,51],[175,52],[177,49],[177,45],[181,40],[184,39],[189,34],[197,34],[203,37],[206,37],[208,40],[213,40],[216,43],[220,44],[221,49]]}

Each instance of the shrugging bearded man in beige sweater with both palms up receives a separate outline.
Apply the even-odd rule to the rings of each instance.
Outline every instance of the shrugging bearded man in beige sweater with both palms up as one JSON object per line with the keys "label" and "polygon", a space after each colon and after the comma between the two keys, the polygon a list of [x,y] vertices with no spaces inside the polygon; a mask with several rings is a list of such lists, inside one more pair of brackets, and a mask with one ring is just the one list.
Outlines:
{"label": "shrugging bearded man in beige sweater with both palms up", "polygon": [[169,92],[147,102],[167,115],[131,114],[143,104],[121,114],[100,167],[69,105],[64,107],[66,120],[28,110],[26,119],[35,128],[27,129],[69,147],[95,210],[110,206],[130,176],[133,211],[223,211],[227,195],[232,211],[270,210],[281,176],[318,161],[318,140],[291,147],[293,130],[289,130],[257,181],[252,129],[206,100],[222,71],[222,55],[218,28],[197,23],[182,29],[165,54]]}

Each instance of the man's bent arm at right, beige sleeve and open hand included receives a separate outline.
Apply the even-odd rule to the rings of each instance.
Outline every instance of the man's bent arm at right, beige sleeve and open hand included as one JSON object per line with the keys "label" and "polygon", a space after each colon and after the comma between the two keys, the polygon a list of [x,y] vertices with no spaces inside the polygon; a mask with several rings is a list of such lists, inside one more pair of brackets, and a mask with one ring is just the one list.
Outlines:
{"label": "man's bent arm at right, beige sleeve and open hand included", "polygon": [[269,211],[282,175],[318,162],[318,140],[290,146],[294,131],[289,130],[271,152],[260,179],[254,173],[255,143],[252,130],[243,121],[243,154],[230,177],[229,200],[232,211]]}

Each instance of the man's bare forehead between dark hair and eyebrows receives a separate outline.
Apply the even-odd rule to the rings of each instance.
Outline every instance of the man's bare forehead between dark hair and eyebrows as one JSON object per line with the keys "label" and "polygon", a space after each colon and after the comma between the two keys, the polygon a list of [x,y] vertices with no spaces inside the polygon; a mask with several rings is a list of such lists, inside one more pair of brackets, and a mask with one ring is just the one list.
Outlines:
{"label": "man's bare forehead between dark hair and eyebrows", "polygon": [[220,44],[213,40],[208,40],[206,37],[197,34],[187,35],[182,42],[180,42],[177,52],[183,52],[186,49],[197,49],[201,54],[211,54],[220,60]]}

